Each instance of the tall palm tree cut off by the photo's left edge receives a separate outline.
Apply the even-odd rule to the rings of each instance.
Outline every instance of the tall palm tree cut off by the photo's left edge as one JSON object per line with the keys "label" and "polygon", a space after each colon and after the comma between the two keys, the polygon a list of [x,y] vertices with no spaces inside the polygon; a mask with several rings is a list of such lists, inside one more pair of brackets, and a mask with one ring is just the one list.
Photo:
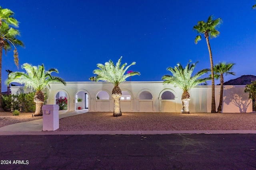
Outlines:
{"label": "tall palm tree cut off by the photo's left edge", "polygon": [[11,26],[18,27],[18,21],[13,17],[14,13],[9,9],[4,9],[0,7],[0,111],[3,111],[2,108],[2,52],[3,49],[5,52],[12,49],[14,46],[14,63],[18,67],[18,46],[24,47],[22,41],[16,39],[20,35],[17,29],[12,28]]}

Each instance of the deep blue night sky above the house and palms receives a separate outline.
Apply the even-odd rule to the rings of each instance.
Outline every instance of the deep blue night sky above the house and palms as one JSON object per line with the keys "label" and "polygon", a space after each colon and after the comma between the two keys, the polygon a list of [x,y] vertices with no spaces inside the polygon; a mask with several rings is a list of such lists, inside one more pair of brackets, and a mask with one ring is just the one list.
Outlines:
{"label": "deep blue night sky above the house and palms", "polygon": [[[234,62],[236,76],[256,75],[256,10],[254,0],[5,0],[20,22],[19,63],[57,68],[66,81],[90,81],[97,63],[136,62],[133,81],[161,81],[166,70],[191,59],[199,61],[194,73],[210,68],[206,40],[196,45],[198,21],[220,17],[220,35],[210,39],[214,64]],[[2,91],[5,70],[17,69],[12,51],[2,57]],[[219,80],[216,80],[216,84]],[[209,81],[210,85],[211,82]]]}

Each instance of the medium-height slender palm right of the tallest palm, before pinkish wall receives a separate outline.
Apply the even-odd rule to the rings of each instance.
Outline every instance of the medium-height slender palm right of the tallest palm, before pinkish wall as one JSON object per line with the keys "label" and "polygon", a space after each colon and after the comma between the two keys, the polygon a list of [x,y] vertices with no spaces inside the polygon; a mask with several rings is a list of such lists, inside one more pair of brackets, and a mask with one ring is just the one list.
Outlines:
{"label": "medium-height slender palm right of the tallest palm, before pinkish wall", "polygon": [[235,72],[231,72],[235,63],[226,63],[222,62],[214,65],[214,78],[217,80],[220,78],[220,103],[218,106],[218,113],[222,111],[222,102],[223,102],[223,85],[224,85],[224,77],[223,74],[227,75],[236,75]]}

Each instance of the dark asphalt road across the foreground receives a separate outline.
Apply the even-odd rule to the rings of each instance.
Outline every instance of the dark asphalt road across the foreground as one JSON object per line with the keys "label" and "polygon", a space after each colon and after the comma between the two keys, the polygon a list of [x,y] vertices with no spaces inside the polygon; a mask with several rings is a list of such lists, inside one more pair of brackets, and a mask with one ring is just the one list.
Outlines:
{"label": "dark asphalt road across the foreground", "polygon": [[256,134],[0,136],[0,169],[256,169]]}

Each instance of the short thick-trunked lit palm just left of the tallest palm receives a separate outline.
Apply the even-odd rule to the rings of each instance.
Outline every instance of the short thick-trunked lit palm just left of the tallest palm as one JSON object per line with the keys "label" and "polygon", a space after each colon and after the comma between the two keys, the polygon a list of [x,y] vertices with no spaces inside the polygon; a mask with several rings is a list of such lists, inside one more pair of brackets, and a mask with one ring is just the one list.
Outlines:
{"label": "short thick-trunked lit palm just left of the tallest palm", "polygon": [[199,72],[197,72],[194,76],[192,76],[192,72],[196,66],[196,63],[190,64],[191,61],[188,62],[185,68],[182,67],[180,63],[177,64],[177,66],[174,66],[174,68],[169,67],[167,70],[172,72],[172,76],[165,75],[162,77],[162,80],[164,80],[165,83],[173,84],[174,87],[179,87],[183,90],[181,101],[182,101],[182,113],[190,113],[189,111],[189,101],[190,101],[190,94],[188,91],[193,88],[194,86],[206,82],[207,80],[210,80],[211,78],[200,78],[203,74],[209,72],[209,69],[202,69]]}

